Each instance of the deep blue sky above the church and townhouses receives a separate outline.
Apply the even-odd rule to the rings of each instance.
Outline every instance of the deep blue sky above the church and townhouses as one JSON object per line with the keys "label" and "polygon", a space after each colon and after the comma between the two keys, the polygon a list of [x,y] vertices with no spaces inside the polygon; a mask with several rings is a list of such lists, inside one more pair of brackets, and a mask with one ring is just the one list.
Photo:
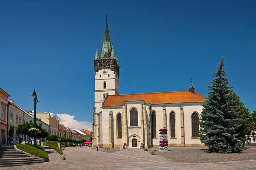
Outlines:
{"label": "deep blue sky above the church and townhouses", "polygon": [[92,122],[93,59],[105,14],[117,50],[120,94],[187,91],[207,97],[218,62],[255,107],[256,1],[3,1],[0,87],[15,104]]}

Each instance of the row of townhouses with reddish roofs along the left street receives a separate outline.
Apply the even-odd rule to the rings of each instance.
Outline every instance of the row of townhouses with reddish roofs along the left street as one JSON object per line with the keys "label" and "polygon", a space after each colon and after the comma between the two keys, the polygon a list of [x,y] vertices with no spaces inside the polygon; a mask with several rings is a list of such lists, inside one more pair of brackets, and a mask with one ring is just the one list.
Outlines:
{"label": "row of townhouses with reddish roofs along the left street", "polygon": [[[3,144],[4,136],[6,136],[6,144],[9,142],[9,138],[12,139],[13,144],[20,143],[21,141],[29,142],[29,136],[17,134],[15,127],[30,120],[34,122],[34,112],[23,110],[15,105],[14,100],[8,100],[9,97],[10,95],[0,88],[0,143]],[[59,121],[59,118],[57,119],[52,113],[36,113],[36,123],[38,125],[41,124],[48,131],[49,135],[64,136],[76,140],[90,140],[90,132],[88,130],[71,129],[61,125]],[[45,141],[46,139],[42,140]]]}

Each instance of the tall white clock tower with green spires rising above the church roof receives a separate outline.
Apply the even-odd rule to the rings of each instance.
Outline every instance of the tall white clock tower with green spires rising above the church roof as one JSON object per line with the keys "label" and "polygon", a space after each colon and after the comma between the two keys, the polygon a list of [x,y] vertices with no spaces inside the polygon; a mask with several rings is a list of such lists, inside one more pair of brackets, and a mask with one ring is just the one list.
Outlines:
{"label": "tall white clock tower with green spires rising above the church roof", "polygon": [[119,65],[114,47],[111,47],[108,32],[108,19],[106,18],[105,34],[101,56],[99,56],[98,46],[94,59],[95,72],[95,113],[101,111],[100,107],[107,95],[119,95]]}

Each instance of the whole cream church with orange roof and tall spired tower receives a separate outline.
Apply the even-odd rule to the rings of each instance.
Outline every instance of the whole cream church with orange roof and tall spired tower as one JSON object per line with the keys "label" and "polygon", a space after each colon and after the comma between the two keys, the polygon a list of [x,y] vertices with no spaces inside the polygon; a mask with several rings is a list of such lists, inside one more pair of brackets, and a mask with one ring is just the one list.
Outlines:
{"label": "whole cream church with orange roof and tall spired tower", "polygon": [[[107,20],[107,19],[106,19]],[[199,117],[207,100],[189,91],[119,94],[119,65],[106,22],[101,56],[94,59],[93,146],[159,146],[159,129],[168,130],[168,147],[204,146]]]}

